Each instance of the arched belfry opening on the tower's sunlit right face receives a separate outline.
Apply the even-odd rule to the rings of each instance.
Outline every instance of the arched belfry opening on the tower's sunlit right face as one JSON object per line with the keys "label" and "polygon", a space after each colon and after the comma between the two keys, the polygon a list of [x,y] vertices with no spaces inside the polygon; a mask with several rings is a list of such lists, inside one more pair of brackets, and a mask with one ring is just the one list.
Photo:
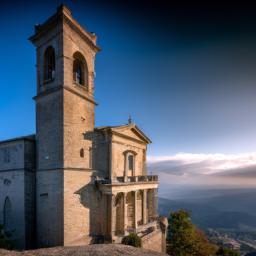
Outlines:
{"label": "arched belfry opening on the tower's sunlit right face", "polygon": [[76,84],[88,88],[88,67],[84,56],[76,52],[73,55],[73,80]]}

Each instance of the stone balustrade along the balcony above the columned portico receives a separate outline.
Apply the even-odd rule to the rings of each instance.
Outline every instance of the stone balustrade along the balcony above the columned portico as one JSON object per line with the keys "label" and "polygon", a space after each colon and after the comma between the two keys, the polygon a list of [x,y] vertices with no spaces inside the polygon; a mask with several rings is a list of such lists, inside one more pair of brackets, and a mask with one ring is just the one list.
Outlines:
{"label": "stone balustrade along the balcony above the columned portico", "polygon": [[136,182],[150,182],[158,181],[158,175],[144,175],[144,176],[118,176],[113,180],[110,179],[101,179],[97,180],[100,184],[112,184],[112,183],[136,183]]}

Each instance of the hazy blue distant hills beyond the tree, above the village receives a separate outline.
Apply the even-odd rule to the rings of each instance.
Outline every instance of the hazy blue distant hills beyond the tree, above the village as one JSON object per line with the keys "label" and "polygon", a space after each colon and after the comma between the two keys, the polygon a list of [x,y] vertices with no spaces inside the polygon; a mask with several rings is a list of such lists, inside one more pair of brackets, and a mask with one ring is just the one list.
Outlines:
{"label": "hazy blue distant hills beyond the tree, above the village", "polygon": [[[192,212],[193,222],[203,229],[224,228],[256,231],[256,191],[255,190],[222,190],[201,191],[200,197],[188,200],[169,200],[159,198],[159,213],[169,215],[170,211],[187,209]],[[171,198],[171,196],[170,196]]]}

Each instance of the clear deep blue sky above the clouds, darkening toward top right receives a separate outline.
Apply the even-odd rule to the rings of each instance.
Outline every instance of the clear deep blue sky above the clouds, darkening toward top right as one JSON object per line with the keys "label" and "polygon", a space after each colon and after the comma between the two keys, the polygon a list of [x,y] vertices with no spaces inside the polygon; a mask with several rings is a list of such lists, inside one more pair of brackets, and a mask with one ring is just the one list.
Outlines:
{"label": "clear deep blue sky above the clouds, darkening toward top right", "polygon": [[[153,141],[149,161],[255,154],[254,6],[62,2],[102,49],[95,67],[97,126],[127,123],[131,114]],[[35,132],[35,49],[28,37],[62,2],[0,2],[0,140]]]}

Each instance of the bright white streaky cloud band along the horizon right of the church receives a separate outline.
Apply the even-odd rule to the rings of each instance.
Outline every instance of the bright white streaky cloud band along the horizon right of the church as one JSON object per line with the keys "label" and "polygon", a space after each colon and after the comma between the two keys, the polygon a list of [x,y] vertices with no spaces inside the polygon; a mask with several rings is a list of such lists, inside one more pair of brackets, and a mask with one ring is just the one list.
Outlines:
{"label": "bright white streaky cloud band along the horizon right of the church", "polygon": [[256,152],[243,154],[191,154],[149,156],[149,171],[178,176],[256,177]]}

